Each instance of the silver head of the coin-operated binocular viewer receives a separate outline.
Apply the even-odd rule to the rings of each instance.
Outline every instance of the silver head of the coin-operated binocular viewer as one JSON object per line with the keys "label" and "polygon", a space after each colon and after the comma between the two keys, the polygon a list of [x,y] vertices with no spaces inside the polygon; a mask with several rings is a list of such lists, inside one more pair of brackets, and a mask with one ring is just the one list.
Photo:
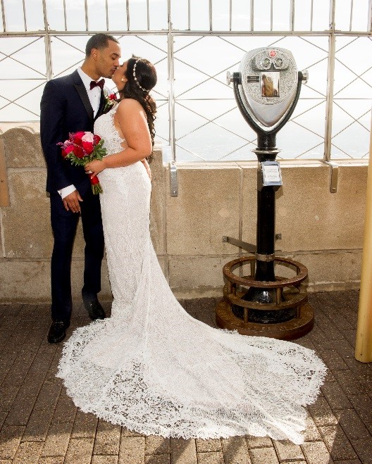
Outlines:
{"label": "silver head of the coin-operated binocular viewer", "polygon": [[301,82],[307,82],[307,72],[297,72],[289,50],[273,47],[248,51],[239,72],[228,73],[227,80],[228,84],[234,82],[244,117],[249,115],[259,130],[268,132],[278,127],[288,113],[292,114]]}

